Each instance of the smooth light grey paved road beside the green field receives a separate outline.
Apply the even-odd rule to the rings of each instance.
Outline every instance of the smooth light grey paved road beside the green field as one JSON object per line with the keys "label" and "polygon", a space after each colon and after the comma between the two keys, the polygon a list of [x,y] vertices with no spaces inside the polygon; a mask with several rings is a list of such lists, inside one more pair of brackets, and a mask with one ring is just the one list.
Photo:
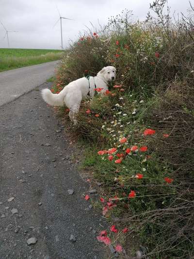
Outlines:
{"label": "smooth light grey paved road beside the green field", "polygon": [[0,72],[0,106],[15,100],[54,75],[58,61]]}

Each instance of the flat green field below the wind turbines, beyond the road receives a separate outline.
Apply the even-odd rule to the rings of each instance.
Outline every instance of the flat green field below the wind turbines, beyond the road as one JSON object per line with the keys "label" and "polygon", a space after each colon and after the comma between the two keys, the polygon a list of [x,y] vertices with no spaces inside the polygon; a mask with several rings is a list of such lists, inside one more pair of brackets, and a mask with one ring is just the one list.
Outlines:
{"label": "flat green field below the wind turbines, beyond the road", "polygon": [[0,71],[61,59],[64,51],[39,49],[0,49]]}

